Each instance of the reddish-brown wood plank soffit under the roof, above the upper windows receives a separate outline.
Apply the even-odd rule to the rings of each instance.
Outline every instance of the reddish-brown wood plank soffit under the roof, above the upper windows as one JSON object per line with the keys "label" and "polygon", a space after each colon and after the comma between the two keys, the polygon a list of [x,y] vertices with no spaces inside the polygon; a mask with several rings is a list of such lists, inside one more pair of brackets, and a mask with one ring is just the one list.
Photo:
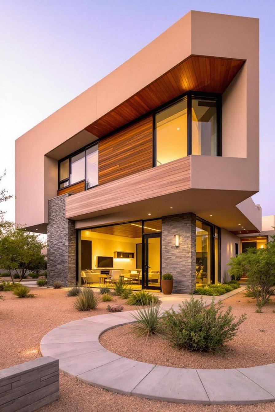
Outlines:
{"label": "reddish-brown wood plank soffit under the roof, above the upper windows", "polygon": [[244,62],[240,59],[189,56],[87,126],[86,130],[97,137],[105,136],[190,90],[223,93]]}

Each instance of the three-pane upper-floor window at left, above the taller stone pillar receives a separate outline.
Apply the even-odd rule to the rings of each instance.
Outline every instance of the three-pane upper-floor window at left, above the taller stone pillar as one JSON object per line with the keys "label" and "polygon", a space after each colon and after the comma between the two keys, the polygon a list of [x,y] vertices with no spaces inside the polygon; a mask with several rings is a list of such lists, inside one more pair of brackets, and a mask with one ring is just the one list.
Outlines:
{"label": "three-pane upper-floor window at left, above the taller stone pillar", "polygon": [[59,189],[85,180],[89,189],[99,183],[98,143],[59,162]]}

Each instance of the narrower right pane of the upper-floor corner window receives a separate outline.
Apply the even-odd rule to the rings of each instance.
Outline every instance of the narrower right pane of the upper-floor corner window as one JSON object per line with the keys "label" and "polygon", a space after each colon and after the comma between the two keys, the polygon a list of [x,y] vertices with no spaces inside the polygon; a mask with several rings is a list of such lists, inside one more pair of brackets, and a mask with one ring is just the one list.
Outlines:
{"label": "narrower right pane of the upper-floor corner window", "polygon": [[192,97],[192,155],[217,155],[216,101]]}

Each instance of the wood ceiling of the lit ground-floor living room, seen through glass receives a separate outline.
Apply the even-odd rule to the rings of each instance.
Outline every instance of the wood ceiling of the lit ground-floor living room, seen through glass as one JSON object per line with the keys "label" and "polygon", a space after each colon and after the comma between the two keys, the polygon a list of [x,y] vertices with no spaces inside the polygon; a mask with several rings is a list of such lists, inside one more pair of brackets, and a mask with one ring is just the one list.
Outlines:
{"label": "wood ceiling of the lit ground-floor living room, seen through glass", "polygon": [[[105,227],[96,227],[90,229],[91,232],[98,232],[104,234],[113,234],[115,236],[131,237],[133,239],[141,238],[142,227],[141,222],[124,223],[122,225],[113,225]],[[160,233],[161,220],[151,220],[144,222],[144,233]]]}

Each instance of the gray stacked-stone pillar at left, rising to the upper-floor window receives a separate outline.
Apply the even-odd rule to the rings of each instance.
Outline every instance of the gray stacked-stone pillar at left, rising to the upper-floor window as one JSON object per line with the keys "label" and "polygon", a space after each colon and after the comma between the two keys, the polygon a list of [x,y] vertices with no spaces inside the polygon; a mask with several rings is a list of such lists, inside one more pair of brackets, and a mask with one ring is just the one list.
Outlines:
{"label": "gray stacked-stone pillar at left, rising to the upper-floor window", "polygon": [[76,283],[76,230],[75,222],[65,217],[65,200],[69,194],[49,200],[47,229],[48,284],[56,280],[63,286]]}

